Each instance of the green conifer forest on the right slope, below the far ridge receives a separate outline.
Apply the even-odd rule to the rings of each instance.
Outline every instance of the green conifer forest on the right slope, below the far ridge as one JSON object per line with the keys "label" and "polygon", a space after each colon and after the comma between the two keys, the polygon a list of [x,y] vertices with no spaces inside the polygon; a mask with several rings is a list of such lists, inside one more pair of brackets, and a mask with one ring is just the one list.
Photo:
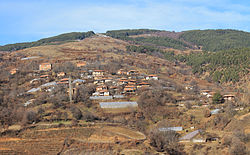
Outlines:
{"label": "green conifer forest on the right slope, below the far ridge", "polygon": [[250,49],[231,49],[216,53],[203,52],[176,57],[192,66],[193,73],[209,72],[213,81],[237,82],[241,76],[249,73]]}

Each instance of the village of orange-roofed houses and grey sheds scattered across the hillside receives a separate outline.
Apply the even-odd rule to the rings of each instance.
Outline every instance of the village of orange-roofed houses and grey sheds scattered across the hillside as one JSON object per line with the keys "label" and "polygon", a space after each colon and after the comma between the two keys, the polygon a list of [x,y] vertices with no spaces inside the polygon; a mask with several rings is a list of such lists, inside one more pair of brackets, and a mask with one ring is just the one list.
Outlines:
{"label": "village of orange-roofed houses and grey sheds scattered across the hillside", "polygon": [[[33,57],[32,57],[33,58]],[[27,59],[27,58],[26,58]],[[25,59],[22,59],[25,60]],[[72,63],[73,64],[73,63]],[[70,102],[72,102],[72,96],[77,92],[77,86],[93,84],[95,91],[89,96],[90,100],[99,103],[102,109],[119,109],[119,108],[137,108],[136,101],[131,100],[133,96],[138,95],[138,91],[151,89],[152,81],[160,80],[156,74],[146,75],[140,73],[137,70],[119,69],[116,73],[109,73],[106,70],[88,70],[86,65],[88,62],[80,61],[75,63],[76,71],[67,72],[52,72],[53,64],[49,62],[41,63],[39,70],[34,71],[34,79],[29,81],[31,88],[25,94],[34,95],[39,92],[51,92],[56,86],[64,86],[67,89]],[[10,74],[14,75],[18,72],[16,68],[10,70]],[[39,85],[41,84],[41,85]],[[37,86],[37,87],[34,87]],[[174,87],[164,87],[168,90],[175,90]],[[186,91],[194,89],[191,85],[183,87]],[[202,107],[209,107],[211,99],[216,92],[212,90],[200,90],[199,94],[203,100]],[[24,95],[24,94],[22,94]],[[183,98],[183,97],[182,97]],[[225,101],[234,101],[235,95],[223,95]],[[29,106],[35,99],[30,99],[24,103],[24,106]],[[194,101],[189,99],[180,99],[176,105],[179,108],[187,106],[186,103],[192,103]],[[189,105],[189,104],[188,104]],[[196,104],[191,104],[192,108],[199,108]],[[223,108],[216,108],[210,111],[208,115],[218,114]],[[237,110],[243,110],[238,108]],[[197,135],[204,133],[201,129],[197,129],[194,126],[184,128],[182,126],[168,126],[160,127],[159,131],[175,131],[183,134],[179,140],[180,142],[194,142],[204,143],[207,141],[217,141],[218,136],[204,138]],[[185,135],[186,132],[189,132]],[[198,138],[197,138],[198,137]]]}

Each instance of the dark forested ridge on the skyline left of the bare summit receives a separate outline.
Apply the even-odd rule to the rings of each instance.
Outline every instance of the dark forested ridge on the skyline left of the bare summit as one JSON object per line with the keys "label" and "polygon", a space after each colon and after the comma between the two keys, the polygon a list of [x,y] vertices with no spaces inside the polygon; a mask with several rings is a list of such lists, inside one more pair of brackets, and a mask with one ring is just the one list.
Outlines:
{"label": "dark forested ridge on the skyline left of the bare summit", "polygon": [[93,35],[95,35],[93,31],[64,33],[58,36],[44,38],[34,42],[16,43],[0,46],[0,51],[15,51],[40,45],[63,44],[70,41],[82,40]]}

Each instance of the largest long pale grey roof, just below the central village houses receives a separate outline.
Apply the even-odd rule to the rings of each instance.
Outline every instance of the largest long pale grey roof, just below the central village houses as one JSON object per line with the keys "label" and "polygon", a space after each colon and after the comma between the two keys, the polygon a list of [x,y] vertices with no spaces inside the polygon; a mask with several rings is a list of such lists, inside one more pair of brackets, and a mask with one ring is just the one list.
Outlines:
{"label": "largest long pale grey roof, just below the central village houses", "polygon": [[100,102],[101,108],[126,108],[137,107],[137,102]]}

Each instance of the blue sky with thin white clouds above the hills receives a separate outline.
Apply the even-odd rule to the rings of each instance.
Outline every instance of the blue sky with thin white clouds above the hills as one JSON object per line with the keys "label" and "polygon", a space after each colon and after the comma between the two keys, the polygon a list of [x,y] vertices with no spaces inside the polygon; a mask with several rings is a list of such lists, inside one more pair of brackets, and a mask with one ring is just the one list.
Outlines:
{"label": "blue sky with thin white clouds above the hills", "polygon": [[139,28],[250,32],[250,0],[0,0],[0,45]]}

